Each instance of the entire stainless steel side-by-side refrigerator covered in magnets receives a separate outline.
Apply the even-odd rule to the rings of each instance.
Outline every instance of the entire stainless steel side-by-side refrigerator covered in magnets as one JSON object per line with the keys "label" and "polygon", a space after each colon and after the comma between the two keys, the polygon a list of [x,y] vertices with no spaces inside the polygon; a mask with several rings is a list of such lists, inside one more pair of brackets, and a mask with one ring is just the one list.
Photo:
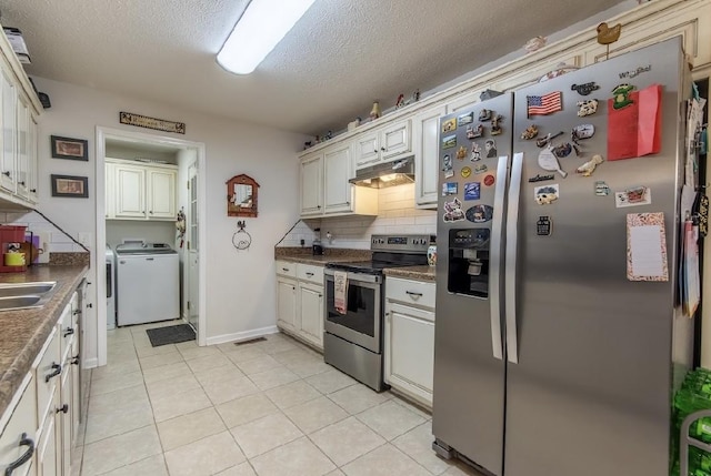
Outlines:
{"label": "entire stainless steel side-by-side refrigerator covered in magnets", "polygon": [[[677,304],[684,71],[675,38],[442,118],[441,455],[498,476],[669,474],[672,396],[692,352]],[[653,113],[659,144],[640,145]],[[658,152],[610,160],[629,155],[624,134]],[[662,216],[665,242],[630,242],[628,215]],[[634,274],[645,257],[663,260],[665,281],[657,267],[631,281],[650,278]]]}

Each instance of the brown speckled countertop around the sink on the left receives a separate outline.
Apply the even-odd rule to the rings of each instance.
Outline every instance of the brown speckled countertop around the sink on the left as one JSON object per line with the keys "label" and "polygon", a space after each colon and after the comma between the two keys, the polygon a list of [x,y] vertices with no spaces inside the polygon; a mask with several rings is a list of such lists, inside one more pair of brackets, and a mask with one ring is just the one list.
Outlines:
{"label": "brown speckled countertop around the sink on the left", "polygon": [[43,307],[0,311],[0,415],[32,367],[32,362],[88,270],[87,265],[36,265],[23,273],[0,273],[0,283],[57,282],[52,297]]}

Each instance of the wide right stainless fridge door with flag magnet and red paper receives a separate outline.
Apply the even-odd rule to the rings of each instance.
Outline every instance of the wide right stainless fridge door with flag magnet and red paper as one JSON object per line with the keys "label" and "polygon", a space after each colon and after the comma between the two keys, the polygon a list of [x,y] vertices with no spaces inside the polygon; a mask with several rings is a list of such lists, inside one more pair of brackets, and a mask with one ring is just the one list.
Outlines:
{"label": "wide right stainless fridge door with flag magnet and red paper", "polygon": [[[517,326],[507,332],[518,353],[507,368],[505,476],[669,475],[672,374],[688,365],[688,350],[679,347],[691,345],[688,320],[674,316],[681,68],[673,39],[515,94],[514,152],[523,153],[523,169],[515,310],[507,310],[514,311]],[[599,85],[590,95],[571,90],[590,82]],[[592,176],[575,173],[595,153],[607,159],[608,99],[620,83],[663,85],[662,150],[605,161]],[[527,118],[527,95],[552,91],[562,92],[562,111]],[[577,102],[585,99],[598,99],[598,110],[579,117]],[[535,124],[539,136],[563,131],[561,144],[585,123],[595,133],[580,141],[580,156],[559,159],[564,179],[539,165],[535,140],[520,139]],[[554,179],[529,182],[538,174]],[[597,195],[597,181],[611,193]],[[535,188],[553,184],[558,199],[539,204],[548,201],[537,201]],[[635,186],[649,188],[651,203],[617,207],[614,192]],[[664,213],[667,282],[627,278],[627,214],[644,212]],[[542,216],[550,234],[539,234]],[[674,337],[680,352],[672,354]]]}

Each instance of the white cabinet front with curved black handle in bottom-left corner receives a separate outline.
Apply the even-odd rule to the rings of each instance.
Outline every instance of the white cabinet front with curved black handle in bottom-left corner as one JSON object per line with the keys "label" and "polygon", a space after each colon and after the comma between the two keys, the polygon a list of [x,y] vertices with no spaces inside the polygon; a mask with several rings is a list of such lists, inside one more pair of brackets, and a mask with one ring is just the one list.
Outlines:
{"label": "white cabinet front with curved black handle in bottom-left corner", "polygon": [[[9,411],[9,408],[8,408]],[[4,474],[8,465],[18,460],[29,448],[20,446],[22,434],[31,438],[34,443],[37,433],[37,393],[34,392],[34,381],[30,379],[26,386],[20,401],[12,411],[12,416],[0,436],[0,472]],[[33,458],[12,472],[12,475],[27,475],[32,467]]]}

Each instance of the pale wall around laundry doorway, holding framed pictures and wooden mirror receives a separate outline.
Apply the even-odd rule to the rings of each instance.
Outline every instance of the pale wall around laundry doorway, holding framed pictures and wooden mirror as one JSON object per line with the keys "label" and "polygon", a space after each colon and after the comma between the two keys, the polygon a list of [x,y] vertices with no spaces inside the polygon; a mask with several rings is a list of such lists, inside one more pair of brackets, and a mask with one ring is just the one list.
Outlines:
{"label": "pale wall around laundry doorway, holding framed pictures and wooden mirror", "polygon": [[[52,80],[34,78],[34,81],[52,101],[52,108],[44,111],[39,123],[39,210],[74,237],[80,232],[96,236],[96,198],[97,193],[103,193],[94,186],[98,125],[203,142],[207,165],[202,173],[207,174],[208,212],[201,217],[201,225],[207,230],[201,259],[207,263],[208,342],[239,338],[242,333],[273,326],[273,246],[298,219],[298,203],[289,198],[298,196],[297,153],[306,138]],[[234,107],[239,108],[239,104]],[[119,111],[184,122],[187,133],[171,135],[119,124]],[[51,134],[87,139],[89,162],[50,159]],[[52,173],[89,176],[89,199],[51,198],[49,175]],[[103,174],[103,171],[99,173]],[[232,246],[237,219],[227,216],[224,182],[239,173],[251,175],[261,185],[259,217],[247,219],[253,244],[244,252]],[[96,280],[97,253],[91,247]],[[103,247],[99,255],[99,265],[103,266]],[[91,300],[98,302],[96,296]],[[87,331],[90,335],[98,332],[96,328]],[[92,357],[96,355],[88,356],[89,359]]]}

